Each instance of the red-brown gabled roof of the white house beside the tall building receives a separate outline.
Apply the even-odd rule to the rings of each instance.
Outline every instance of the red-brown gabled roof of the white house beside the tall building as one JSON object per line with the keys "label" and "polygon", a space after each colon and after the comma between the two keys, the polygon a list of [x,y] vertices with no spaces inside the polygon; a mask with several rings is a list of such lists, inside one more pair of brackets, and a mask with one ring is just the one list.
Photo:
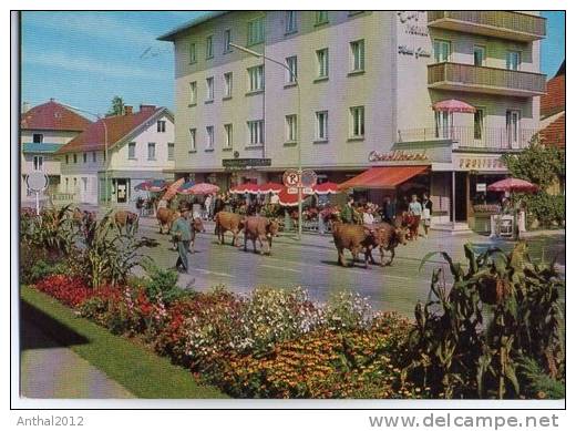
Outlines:
{"label": "red-brown gabled roof of the white house beside the tall building", "polygon": [[172,113],[166,107],[155,106],[133,114],[106,116],[92,123],[84,132],[63,145],[58,153],[104,150],[106,138],[107,147],[111,148],[138,132],[148,121],[161,114],[166,114],[172,119]]}

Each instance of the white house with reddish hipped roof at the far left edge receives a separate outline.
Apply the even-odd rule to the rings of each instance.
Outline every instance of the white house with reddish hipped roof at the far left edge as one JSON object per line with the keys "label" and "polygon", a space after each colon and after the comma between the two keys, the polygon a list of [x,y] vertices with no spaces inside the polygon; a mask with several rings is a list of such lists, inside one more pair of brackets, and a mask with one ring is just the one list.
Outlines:
{"label": "white house with reddish hipped roof at the far left edge", "polygon": [[24,103],[20,116],[20,174],[21,198],[30,198],[25,184],[33,171],[43,172],[49,179],[45,194],[58,192],[60,184],[60,160],[54,153],[91,122],[50,99],[49,102],[29,109]]}

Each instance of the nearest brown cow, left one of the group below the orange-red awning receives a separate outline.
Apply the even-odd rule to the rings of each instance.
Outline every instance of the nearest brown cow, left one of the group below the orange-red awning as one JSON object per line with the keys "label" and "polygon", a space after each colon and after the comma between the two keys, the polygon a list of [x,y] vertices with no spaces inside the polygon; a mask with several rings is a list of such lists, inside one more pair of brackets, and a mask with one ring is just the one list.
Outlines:
{"label": "nearest brown cow, left one of the group below the orange-red awning", "polygon": [[[378,228],[368,226],[333,222],[332,237],[338,250],[338,265],[353,266],[360,253],[364,254],[364,268],[368,268],[368,261],[376,264],[371,252],[381,245],[382,237],[378,230]],[[352,263],[350,265],[346,265],[344,249],[349,249],[352,253]]]}

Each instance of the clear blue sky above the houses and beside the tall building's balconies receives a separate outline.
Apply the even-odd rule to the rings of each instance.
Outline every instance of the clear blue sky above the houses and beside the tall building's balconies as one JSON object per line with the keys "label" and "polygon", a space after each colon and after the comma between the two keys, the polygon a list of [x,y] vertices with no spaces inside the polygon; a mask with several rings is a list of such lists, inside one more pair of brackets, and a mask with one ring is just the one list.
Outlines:
{"label": "clear blue sky above the houses and beside the tall building's balconies", "polygon": [[[171,42],[156,38],[206,12],[22,12],[22,101],[54,98],[105,113],[114,95],[128,105],[174,107]],[[553,76],[565,58],[564,12],[548,19],[542,72]]]}

